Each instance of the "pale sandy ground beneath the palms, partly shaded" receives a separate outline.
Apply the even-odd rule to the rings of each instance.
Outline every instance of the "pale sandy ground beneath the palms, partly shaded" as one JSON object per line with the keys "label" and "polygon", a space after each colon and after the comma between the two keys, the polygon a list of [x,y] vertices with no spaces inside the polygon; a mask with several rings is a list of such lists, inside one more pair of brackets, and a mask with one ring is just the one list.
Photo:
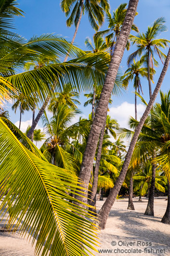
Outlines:
{"label": "pale sandy ground beneath the palms, partly shaded", "polygon": [[[98,210],[102,204],[103,201],[97,202]],[[94,255],[170,256],[170,226],[160,222],[167,201],[165,198],[155,199],[155,217],[144,215],[146,205],[147,199],[142,202],[134,199],[135,211],[130,211],[127,210],[128,199],[116,201],[106,229],[99,235],[101,245],[97,249],[103,251]],[[0,232],[0,256],[34,256],[34,247],[17,233]]]}

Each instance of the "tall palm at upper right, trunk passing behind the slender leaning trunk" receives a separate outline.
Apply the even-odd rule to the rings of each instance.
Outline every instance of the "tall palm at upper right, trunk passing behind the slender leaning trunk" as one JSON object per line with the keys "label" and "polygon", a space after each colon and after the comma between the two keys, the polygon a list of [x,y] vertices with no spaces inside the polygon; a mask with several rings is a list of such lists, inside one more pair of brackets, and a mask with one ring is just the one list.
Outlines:
{"label": "tall palm at upper right, trunk passing behind the slender leaning trunk", "polygon": [[[167,27],[164,25],[165,18],[160,17],[157,20],[155,20],[152,27],[148,27],[147,31],[145,33],[138,33],[136,36],[130,35],[130,40],[137,44],[137,50],[132,53],[128,58],[128,64],[131,63],[132,59],[136,56],[143,55],[143,58],[145,59],[147,63],[147,72],[148,72],[148,84],[149,84],[149,96],[151,99],[152,96],[152,88],[151,88],[151,79],[150,79],[150,68],[153,69],[154,64],[155,66],[158,66],[158,62],[156,61],[154,57],[154,53],[158,55],[160,60],[163,63],[163,60],[165,60],[166,55],[159,49],[163,48],[165,49],[168,47],[169,41],[166,39],[157,39],[157,36],[167,30]],[[154,62],[154,64],[153,64]],[[150,67],[151,63],[151,67]],[[153,153],[153,158],[155,157],[155,152]],[[153,178],[152,178],[152,185],[151,185],[151,193],[148,200],[148,206],[146,208],[145,214],[146,215],[154,215],[154,189],[155,189],[155,175],[156,175],[156,167],[153,164]]]}

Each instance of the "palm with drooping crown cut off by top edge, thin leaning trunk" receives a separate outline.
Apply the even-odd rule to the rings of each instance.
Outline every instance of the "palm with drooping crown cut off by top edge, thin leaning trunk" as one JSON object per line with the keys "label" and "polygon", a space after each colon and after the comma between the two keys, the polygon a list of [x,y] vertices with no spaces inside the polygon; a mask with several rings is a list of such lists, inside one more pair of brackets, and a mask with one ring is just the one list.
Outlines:
{"label": "palm with drooping crown cut off by top edge, thin leaning trunk", "polygon": [[[82,14],[84,11],[88,14],[90,24],[92,28],[95,30],[99,29],[99,26],[102,26],[105,20],[105,10],[109,10],[110,5],[108,0],[78,0],[73,7],[74,0],[62,0],[61,1],[61,8],[62,11],[65,12],[65,16],[69,18],[66,20],[67,27],[71,27],[73,23],[75,24],[75,32],[73,35],[73,39],[71,43],[74,43],[76,38],[78,27],[82,18]],[[72,10],[72,11],[71,11]],[[97,24],[99,23],[99,25]],[[67,60],[68,54],[65,57],[64,62]]]}

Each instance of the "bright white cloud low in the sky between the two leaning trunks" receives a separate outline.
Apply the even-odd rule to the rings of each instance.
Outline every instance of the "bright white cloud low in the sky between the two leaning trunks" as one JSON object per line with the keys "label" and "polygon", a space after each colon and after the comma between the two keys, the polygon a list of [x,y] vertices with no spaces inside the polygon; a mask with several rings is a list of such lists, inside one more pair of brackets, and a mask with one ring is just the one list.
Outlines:
{"label": "bright white cloud low in the sky between the two leaning trunks", "polygon": [[[128,121],[130,116],[135,116],[135,108],[134,104],[128,103],[124,101],[121,105],[111,107],[108,114],[118,120],[118,124],[122,128],[129,128]],[[143,104],[137,105],[137,117],[138,120],[142,117],[145,110],[145,106]]]}

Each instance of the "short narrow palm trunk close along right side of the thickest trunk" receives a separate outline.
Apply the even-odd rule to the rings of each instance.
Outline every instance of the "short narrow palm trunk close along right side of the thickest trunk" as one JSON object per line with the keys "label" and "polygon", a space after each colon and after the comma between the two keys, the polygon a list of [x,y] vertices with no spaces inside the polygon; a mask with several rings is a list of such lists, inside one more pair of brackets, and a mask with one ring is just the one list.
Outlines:
{"label": "short narrow palm trunk close along right side of the thickest trunk", "polygon": [[[101,130],[100,139],[99,139],[99,146],[98,146],[98,152],[96,157],[96,164],[94,169],[94,176],[93,176],[93,183],[92,183],[92,194],[91,194],[91,206],[96,206],[96,194],[97,194],[97,184],[98,184],[98,176],[99,176],[99,166],[100,166],[100,159],[102,154],[102,145],[103,145],[103,139],[105,135],[105,126]],[[91,208],[92,212],[96,213],[96,210]]]}

